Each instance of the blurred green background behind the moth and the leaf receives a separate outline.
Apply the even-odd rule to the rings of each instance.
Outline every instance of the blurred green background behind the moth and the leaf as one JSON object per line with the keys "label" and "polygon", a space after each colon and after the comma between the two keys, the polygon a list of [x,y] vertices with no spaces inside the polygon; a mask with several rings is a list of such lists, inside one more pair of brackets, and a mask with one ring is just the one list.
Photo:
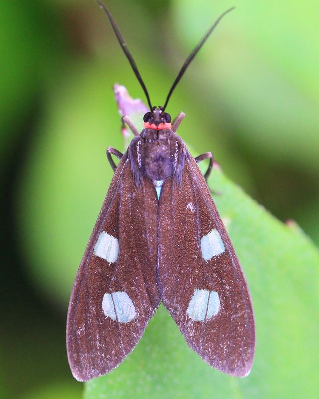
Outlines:
{"label": "blurred green background behind the moth and the leaf", "polygon": [[[65,319],[121,150],[111,87],[143,92],[91,0],[1,0],[0,398],[81,398]],[[167,112],[196,153],[319,244],[319,2],[106,1],[155,105],[212,22],[235,5]],[[213,186],[213,183],[212,183]],[[251,392],[251,397],[260,393]]]}

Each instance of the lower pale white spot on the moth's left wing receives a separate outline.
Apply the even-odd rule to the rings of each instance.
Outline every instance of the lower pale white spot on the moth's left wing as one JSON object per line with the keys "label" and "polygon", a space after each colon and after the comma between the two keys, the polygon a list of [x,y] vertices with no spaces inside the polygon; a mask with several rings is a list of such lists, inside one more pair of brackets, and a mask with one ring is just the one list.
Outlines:
{"label": "lower pale white spot on the moth's left wing", "polygon": [[136,317],[135,306],[124,291],[105,293],[102,309],[106,317],[120,323],[128,323]]}

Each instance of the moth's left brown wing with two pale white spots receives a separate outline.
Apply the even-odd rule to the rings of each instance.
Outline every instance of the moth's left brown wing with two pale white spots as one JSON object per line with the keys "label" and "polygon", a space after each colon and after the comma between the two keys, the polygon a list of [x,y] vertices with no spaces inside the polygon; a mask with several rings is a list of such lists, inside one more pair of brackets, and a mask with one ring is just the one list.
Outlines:
{"label": "moth's left brown wing with two pale white spots", "polygon": [[134,348],[159,304],[158,204],[145,179],[136,188],[125,154],[117,167],[73,286],[67,352],[74,377],[115,368]]}

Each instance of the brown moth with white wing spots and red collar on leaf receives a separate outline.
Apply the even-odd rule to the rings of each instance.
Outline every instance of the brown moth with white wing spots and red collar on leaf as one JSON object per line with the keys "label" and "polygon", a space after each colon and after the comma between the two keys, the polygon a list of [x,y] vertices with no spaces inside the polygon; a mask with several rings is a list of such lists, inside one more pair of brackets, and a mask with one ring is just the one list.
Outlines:
{"label": "brown moth with white wing spots and red collar on leaf", "polygon": [[[248,286],[205,179],[210,152],[194,158],[176,134],[184,114],[165,111],[186,68],[224,12],[186,59],[164,106],[152,106],[109,12],[115,35],[150,110],[125,154],[107,149],[114,176],[73,286],[67,353],[74,377],[108,373],[133,350],[160,302],[188,345],[214,368],[246,376],[255,350]],[[120,161],[115,165],[112,155]],[[203,176],[197,163],[209,159]]]}

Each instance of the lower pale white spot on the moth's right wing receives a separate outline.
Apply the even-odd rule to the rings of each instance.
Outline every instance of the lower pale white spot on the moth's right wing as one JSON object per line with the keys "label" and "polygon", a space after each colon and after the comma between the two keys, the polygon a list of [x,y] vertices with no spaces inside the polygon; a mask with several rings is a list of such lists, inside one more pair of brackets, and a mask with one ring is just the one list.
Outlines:
{"label": "lower pale white spot on the moth's right wing", "polygon": [[209,320],[216,316],[220,308],[218,292],[196,289],[189,301],[187,315],[195,321]]}

